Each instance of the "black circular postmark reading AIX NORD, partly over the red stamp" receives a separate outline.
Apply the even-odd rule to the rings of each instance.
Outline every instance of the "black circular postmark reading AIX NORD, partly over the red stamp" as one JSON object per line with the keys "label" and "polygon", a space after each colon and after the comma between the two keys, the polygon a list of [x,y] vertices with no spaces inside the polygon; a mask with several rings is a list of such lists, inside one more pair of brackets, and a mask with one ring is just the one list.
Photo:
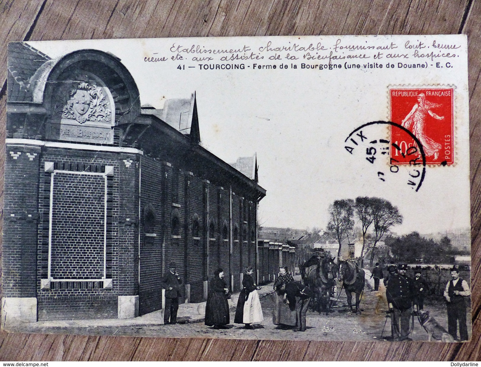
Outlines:
{"label": "black circular postmark reading AIX NORD, partly over the red stamp", "polygon": [[[382,126],[390,126],[397,135],[409,137],[406,141],[412,143],[400,147],[386,138],[385,129],[376,129]],[[367,122],[354,129],[344,143],[344,149],[367,162],[381,182],[401,180],[415,191],[421,188],[426,175],[426,155],[419,139],[405,127],[392,121]]]}

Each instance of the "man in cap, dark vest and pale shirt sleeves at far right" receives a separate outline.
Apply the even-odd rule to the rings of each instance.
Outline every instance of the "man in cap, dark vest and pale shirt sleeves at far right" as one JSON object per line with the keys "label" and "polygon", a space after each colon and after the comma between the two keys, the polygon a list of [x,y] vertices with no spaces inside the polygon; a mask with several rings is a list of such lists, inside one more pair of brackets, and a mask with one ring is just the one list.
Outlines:
{"label": "man in cap, dark vest and pale shirt sleeves at far right", "polygon": [[444,298],[447,301],[448,333],[454,339],[457,338],[457,321],[459,321],[459,336],[461,341],[468,340],[468,328],[466,326],[466,303],[465,297],[471,294],[468,283],[459,277],[459,270],[454,266],[451,269],[451,280],[444,289]]}

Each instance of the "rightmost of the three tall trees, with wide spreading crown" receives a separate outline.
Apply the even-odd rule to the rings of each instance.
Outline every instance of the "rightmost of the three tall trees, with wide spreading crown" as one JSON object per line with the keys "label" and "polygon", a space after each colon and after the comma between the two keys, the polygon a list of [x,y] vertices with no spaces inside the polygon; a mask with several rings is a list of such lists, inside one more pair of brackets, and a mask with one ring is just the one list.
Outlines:
{"label": "rightmost of the three tall trees, with wide spreading crown", "polygon": [[386,233],[389,232],[393,225],[403,223],[403,216],[399,213],[397,207],[392,206],[391,202],[380,197],[371,197],[371,205],[373,207],[373,244],[371,249],[371,257],[369,266],[372,266],[376,245]]}

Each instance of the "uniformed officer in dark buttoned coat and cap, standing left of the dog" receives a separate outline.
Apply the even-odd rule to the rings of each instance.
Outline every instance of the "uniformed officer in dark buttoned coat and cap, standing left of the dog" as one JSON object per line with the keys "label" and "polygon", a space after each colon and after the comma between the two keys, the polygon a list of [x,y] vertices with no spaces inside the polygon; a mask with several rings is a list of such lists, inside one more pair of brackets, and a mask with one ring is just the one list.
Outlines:
{"label": "uniformed officer in dark buttoned coat and cap, standing left of the dog", "polygon": [[[406,276],[407,264],[398,264],[398,274],[390,274],[386,286],[386,298],[391,311],[393,341],[407,340],[409,318],[418,311],[412,280]],[[391,272],[390,272],[391,273]]]}

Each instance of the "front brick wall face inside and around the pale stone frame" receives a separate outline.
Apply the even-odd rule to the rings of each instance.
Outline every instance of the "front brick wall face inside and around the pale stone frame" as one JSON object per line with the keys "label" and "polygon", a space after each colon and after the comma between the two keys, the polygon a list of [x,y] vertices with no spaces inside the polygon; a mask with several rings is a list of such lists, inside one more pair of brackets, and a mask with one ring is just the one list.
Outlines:
{"label": "front brick wall face inside and around the pale stone frame", "polygon": [[[52,282],[51,289],[40,289],[40,279],[47,277],[48,247],[49,247],[49,215],[51,172],[44,172],[45,162],[54,162],[56,170],[101,172],[105,166],[114,167],[114,175],[107,179],[107,242],[106,242],[106,276],[113,279],[113,288],[102,288],[103,282]],[[124,163],[122,162],[122,165]],[[124,165],[125,166],[125,165]],[[119,186],[121,181],[118,155],[115,153],[98,153],[88,151],[69,151],[66,149],[44,148],[40,160],[40,180],[38,185],[38,248],[37,248],[37,300],[38,319],[73,319],[73,318],[110,318],[117,316],[117,296],[126,291],[121,285],[119,273],[119,237],[122,238],[122,247],[125,249],[129,237],[125,236],[119,226],[119,205],[122,204]],[[135,167],[135,164],[134,164]],[[59,176],[60,175],[60,176]],[[57,180],[57,176],[61,179]],[[71,177],[72,176],[72,177]],[[104,195],[100,191],[105,189],[103,177],[86,174],[60,174],[54,175],[54,201],[53,214],[68,225],[63,230],[60,223],[55,224],[52,234],[57,236],[53,241],[52,250],[52,276],[58,278],[85,279],[92,275],[103,276],[103,228],[100,231],[99,218],[93,212],[76,211],[81,208],[101,210],[103,226]],[[99,181],[101,177],[101,181]],[[70,178],[71,180],[64,180]],[[59,184],[59,185],[57,185]],[[88,185],[91,190],[85,197],[73,198],[79,190]],[[93,194],[93,196],[91,195]],[[128,194],[129,196],[132,193]],[[75,202],[73,202],[73,201]],[[70,202],[72,201],[72,202]],[[73,207],[70,207],[70,204]],[[90,206],[90,207],[89,207]],[[87,214],[85,214],[87,213]],[[62,219],[63,218],[63,219]],[[68,220],[67,220],[68,219]],[[135,217],[132,218],[135,222]],[[125,219],[124,219],[125,220]],[[80,221],[76,223],[76,221]],[[94,231],[83,231],[83,223],[90,223]],[[54,222],[55,223],[55,222]],[[54,224],[52,223],[52,224]],[[95,224],[96,223],[96,224]],[[133,226],[135,227],[135,225]],[[77,229],[76,229],[77,228]],[[76,233],[76,238],[69,238],[71,231]],[[98,233],[97,233],[98,232]],[[101,233],[100,233],[101,232]],[[101,240],[98,238],[101,236]],[[70,249],[62,245],[62,241],[71,242]],[[126,241],[126,242],[124,242]],[[101,246],[100,246],[101,242]],[[84,244],[94,244],[86,251]],[[56,250],[55,250],[56,249]],[[56,256],[55,256],[56,254]],[[82,260],[82,261],[80,261]],[[92,261],[93,260],[93,261]],[[64,262],[62,264],[62,262]],[[127,268],[127,266],[125,267]],[[125,269],[124,268],[124,269]],[[131,270],[130,272],[132,272]],[[92,273],[93,272],[93,273]],[[127,269],[128,273],[128,269]],[[124,275],[125,276],[125,275]],[[124,288],[122,288],[124,287]],[[102,306],[103,305],[103,306]]]}

